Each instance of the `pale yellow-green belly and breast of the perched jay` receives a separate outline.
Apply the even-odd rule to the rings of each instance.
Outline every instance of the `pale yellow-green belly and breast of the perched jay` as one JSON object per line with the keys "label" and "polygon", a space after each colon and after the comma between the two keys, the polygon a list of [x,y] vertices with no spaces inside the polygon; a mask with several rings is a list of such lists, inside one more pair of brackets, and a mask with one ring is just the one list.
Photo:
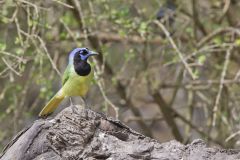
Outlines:
{"label": "pale yellow-green belly and breast of the perched jay", "polygon": [[87,76],[79,76],[74,71],[71,72],[69,79],[62,87],[65,96],[85,96],[88,92],[90,83],[93,79],[93,69]]}

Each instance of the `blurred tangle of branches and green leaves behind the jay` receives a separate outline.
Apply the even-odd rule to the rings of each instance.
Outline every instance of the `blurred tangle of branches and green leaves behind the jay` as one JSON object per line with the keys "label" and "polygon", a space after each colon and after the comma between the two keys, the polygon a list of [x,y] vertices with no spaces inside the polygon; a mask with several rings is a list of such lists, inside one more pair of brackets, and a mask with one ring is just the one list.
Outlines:
{"label": "blurred tangle of branches and green leaves behind the jay", "polygon": [[161,142],[239,148],[239,12],[238,0],[0,0],[0,148],[60,88],[74,47],[101,54],[94,110]]}

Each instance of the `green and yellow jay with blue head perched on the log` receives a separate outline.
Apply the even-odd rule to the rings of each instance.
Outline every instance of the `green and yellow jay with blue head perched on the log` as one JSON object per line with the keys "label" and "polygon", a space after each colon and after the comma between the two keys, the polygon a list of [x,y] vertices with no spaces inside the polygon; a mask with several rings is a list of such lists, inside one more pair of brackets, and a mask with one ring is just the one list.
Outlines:
{"label": "green and yellow jay with blue head perched on the log", "polygon": [[88,48],[75,48],[70,52],[68,65],[62,76],[62,87],[41,110],[39,117],[52,114],[66,97],[86,96],[94,77],[93,67],[88,63],[88,58],[95,55],[98,53]]}

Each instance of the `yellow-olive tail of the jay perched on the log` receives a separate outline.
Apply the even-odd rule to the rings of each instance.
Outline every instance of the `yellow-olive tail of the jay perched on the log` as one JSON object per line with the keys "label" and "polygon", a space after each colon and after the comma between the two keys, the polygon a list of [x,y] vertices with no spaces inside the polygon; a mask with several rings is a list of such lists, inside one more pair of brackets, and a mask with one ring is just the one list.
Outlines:
{"label": "yellow-olive tail of the jay perched on the log", "polygon": [[39,113],[39,117],[50,115],[62,102],[64,97],[65,96],[62,94],[62,91],[61,90],[58,91],[58,93],[52,97],[52,99],[47,103],[47,105]]}

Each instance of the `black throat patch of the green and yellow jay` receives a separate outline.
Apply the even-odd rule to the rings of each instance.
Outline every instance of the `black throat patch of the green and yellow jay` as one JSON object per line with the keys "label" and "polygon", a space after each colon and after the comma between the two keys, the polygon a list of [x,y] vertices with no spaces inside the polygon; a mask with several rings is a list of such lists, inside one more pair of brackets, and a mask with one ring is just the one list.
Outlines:
{"label": "black throat patch of the green and yellow jay", "polygon": [[81,60],[80,57],[74,57],[73,66],[79,76],[87,76],[91,72],[91,66],[87,61]]}

